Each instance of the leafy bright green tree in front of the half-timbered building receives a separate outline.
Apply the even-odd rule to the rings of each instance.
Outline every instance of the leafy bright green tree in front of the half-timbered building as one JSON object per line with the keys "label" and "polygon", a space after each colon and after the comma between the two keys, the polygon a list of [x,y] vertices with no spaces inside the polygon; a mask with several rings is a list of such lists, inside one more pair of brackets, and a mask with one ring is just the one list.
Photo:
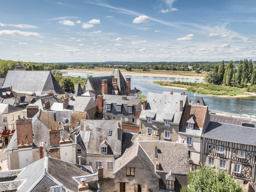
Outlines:
{"label": "leafy bright green tree in front of the half-timbered building", "polygon": [[219,168],[217,171],[213,167],[201,164],[198,171],[189,172],[189,187],[181,188],[182,192],[243,192],[238,182]]}

